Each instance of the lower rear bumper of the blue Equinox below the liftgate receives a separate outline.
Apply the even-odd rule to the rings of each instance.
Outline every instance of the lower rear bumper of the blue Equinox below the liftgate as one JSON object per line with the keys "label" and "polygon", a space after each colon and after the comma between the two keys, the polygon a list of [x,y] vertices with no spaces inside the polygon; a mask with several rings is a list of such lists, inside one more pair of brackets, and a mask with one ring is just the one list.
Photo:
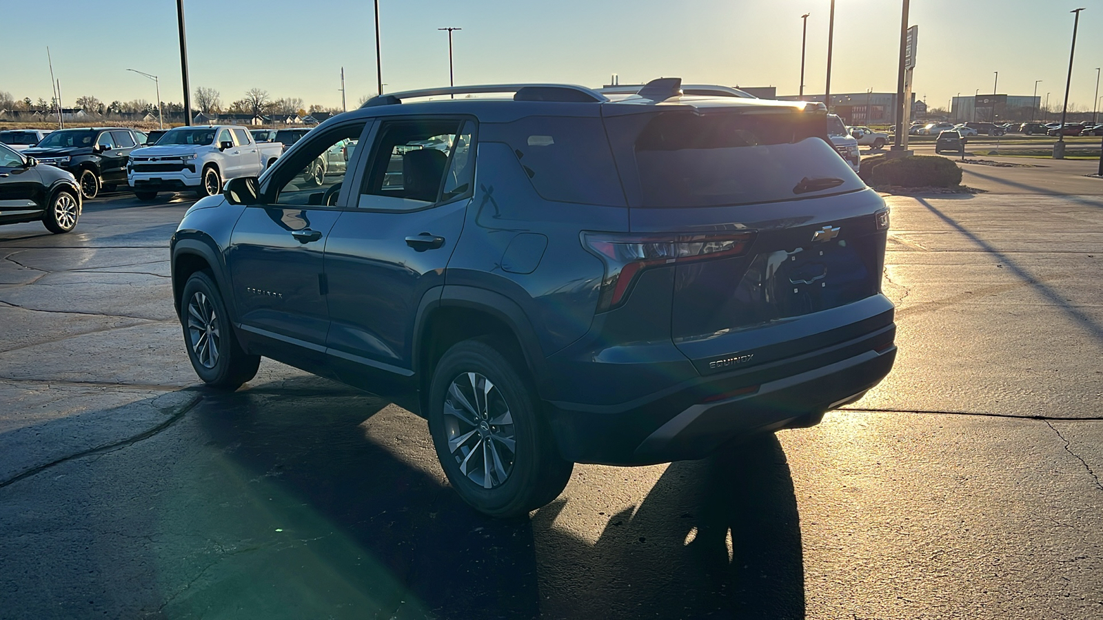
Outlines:
{"label": "lower rear bumper of the blue Equinox below the liftgate", "polygon": [[[576,462],[699,459],[733,439],[790,424],[803,426],[807,420],[801,418],[860,398],[892,370],[895,334],[896,325],[890,324],[765,367],[686,382],[627,407],[548,403],[548,419],[560,453]],[[711,400],[725,394],[731,396]]]}

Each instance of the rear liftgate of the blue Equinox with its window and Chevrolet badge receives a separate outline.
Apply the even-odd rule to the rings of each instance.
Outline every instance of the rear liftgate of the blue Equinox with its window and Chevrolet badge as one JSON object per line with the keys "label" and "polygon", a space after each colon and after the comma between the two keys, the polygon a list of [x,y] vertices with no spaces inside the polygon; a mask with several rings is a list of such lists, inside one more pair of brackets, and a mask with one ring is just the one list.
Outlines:
{"label": "rear liftgate of the blue Equinox with its window and Chevrolet badge", "polygon": [[703,375],[891,331],[884,201],[834,152],[822,107],[774,104],[607,106],[632,209],[630,235],[587,239],[602,303],[674,269],[671,336]]}

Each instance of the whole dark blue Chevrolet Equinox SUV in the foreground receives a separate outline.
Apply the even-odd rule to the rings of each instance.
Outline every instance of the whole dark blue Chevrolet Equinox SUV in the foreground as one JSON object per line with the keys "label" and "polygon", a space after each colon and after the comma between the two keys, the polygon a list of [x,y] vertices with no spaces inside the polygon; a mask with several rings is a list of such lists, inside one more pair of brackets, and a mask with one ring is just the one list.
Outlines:
{"label": "whole dark blue Chevrolet Equinox SUV in the foreground", "polygon": [[[196,373],[233,389],[264,355],[416,395],[452,485],[496,516],[575,462],[702,458],[857,400],[896,357],[884,201],[823,104],[679,83],[419,90],[326,120],[172,236]],[[508,96],[409,103],[469,93]]]}

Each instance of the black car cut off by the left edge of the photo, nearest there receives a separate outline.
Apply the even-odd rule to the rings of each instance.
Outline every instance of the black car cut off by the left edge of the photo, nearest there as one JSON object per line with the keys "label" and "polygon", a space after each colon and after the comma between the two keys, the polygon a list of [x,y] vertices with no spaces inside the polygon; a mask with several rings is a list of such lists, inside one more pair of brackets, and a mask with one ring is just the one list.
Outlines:
{"label": "black car cut off by the left edge of the photo, nearest there", "polygon": [[75,228],[79,217],[81,189],[73,174],[0,145],[0,224],[42,222],[58,234]]}

